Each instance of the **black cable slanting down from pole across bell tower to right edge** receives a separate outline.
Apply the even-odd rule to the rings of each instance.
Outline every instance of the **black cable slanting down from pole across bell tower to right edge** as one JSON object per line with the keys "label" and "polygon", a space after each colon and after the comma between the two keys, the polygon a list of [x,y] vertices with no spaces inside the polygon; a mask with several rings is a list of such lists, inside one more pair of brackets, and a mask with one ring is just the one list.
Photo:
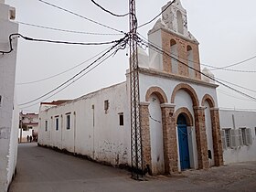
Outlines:
{"label": "black cable slanting down from pole across bell tower to right edge", "polygon": [[255,98],[255,97],[252,97],[251,95],[249,95],[249,94],[247,94],[247,93],[244,93],[244,92],[239,91],[239,90],[237,90],[237,89],[235,89],[235,88],[232,88],[232,87],[230,87],[229,85],[227,85],[227,84],[221,82],[220,80],[216,80],[216,79],[214,79],[214,78],[208,76],[207,74],[204,74],[204,73],[201,72],[200,70],[195,69],[195,68],[193,68],[193,67],[191,67],[191,66],[188,66],[187,63],[185,63],[185,62],[183,62],[183,61],[181,61],[181,60],[179,60],[179,59],[176,59],[175,57],[171,56],[169,53],[165,52],[162,48],[157,48],[157,47],[155,47],[154,45],[152,45],[150,42],[145,42],[143,39],[141,39],[141,41],[140,41],[139,43],[144,44],[144,46],[146,46],[146,47],[148,47],[148,48],[155,48],[155,51],[158,51],[159,53],[161,53],[161,54],[163,54],[163,55],[165,54],[167,57],[169,57],[169,58],[171,58],[171,59],[175,59],[177,62],[181,63],[182,65],[187,66],[187,68],[193,69],[193,70],[195,70],[196,72],[200,73],[201,75],[207,77],[208,79],[210,79],[210,80],[215,80],[216,82],[218,82],[219,84],[223,85],[224,87],[227,87],[227,88],[229,88],[229,89],[232,90],[232,91],[236,91],[236,92],[240,93],[241,95],[243,95],[243,96],[245,96],[245,97],[248,97],[248,98],[250,98],[250,99],[253,100],[253,101],[256,101],[256,98]]}

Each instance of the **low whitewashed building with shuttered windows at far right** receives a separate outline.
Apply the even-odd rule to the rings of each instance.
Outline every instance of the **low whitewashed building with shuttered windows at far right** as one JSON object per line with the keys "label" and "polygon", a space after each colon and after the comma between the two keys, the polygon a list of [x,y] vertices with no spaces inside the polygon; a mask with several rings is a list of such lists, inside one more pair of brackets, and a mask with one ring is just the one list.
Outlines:
{"label": "low whitewashed building with shuttered windows at far right", "polygon": [[224,164],[256,161],[256,112],[219,112]]}

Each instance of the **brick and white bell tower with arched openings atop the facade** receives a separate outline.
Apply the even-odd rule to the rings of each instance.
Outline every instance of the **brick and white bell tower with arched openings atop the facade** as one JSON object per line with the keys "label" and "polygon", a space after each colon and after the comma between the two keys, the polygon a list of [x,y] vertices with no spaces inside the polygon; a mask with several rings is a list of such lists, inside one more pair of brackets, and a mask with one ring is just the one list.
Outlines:
{"label": "brick and white bell tower with arched openings atop the facade", "polygon": [[162,10],[165,10],[162,19],[149,31],[148,38],[168,55],[150,50],[150,68],[201,80],[200,73],[195,70],[200,70],[199,43],[188,31],[186,9],[176,0],[168,2]]}

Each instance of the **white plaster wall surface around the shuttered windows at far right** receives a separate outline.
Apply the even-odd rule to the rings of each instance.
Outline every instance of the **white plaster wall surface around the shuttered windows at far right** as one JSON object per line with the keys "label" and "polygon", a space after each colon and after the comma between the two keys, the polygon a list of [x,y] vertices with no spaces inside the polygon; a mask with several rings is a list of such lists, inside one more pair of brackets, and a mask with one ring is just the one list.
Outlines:
{"label": "white plaster wall surface around the shuttered windows at far right", "polygon": [[219,111],[220,127],[233,128],[232,115],[234,115],[235,129],[251,128],[252,144],[239,146],[235,149],[227,148],[223,150],[224,164],[256,161],[256,112],[243,111]]}

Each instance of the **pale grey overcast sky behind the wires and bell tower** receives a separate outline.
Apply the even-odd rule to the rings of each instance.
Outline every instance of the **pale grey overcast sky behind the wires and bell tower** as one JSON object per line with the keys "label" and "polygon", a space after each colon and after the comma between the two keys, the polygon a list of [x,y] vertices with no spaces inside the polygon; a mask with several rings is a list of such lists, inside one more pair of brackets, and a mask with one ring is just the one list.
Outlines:
{"label": "pale grey overcast sky behind the wires and bell tower", "polygon": [[[128,17],[110,16],[93,5],[90,0],[46,1],[69,9],[81,16],[91,18],[106,26],[123,31],[128,30]],[[97,2],[117,14],[128,12],[128,0],[97,0]],[[137,0],[136,2],[138,22],[139,24],[144,24],[144,22],[159,14],[161,7],[168,1]],[[202,64],[222,67],[256,56],[255,0],[243,2],[239,0],[182,0],[181,2],[184,8],[187,9],[188,30],[200,43],[200,60]],[[123,37],[123,35],[118,35],[116,31],[92,24],[79,16],[70,15],[38,0],[5,0],[5,3],[16,7],[16,21],[18,22],[43,27],[108,34],[101,36],[84,35],[20,24],[19,33],[27,37],[73,42],[102,42]],[[139,29],[139,32],[144,37],[147,37],[148,30],[154,26],[155,22]],[[29,42],[20,38],[16,65],[16,83],[48,78],[90,59],[109,47],[56,45]],[[114,57],[108,59],[98,68],[91,70],[82,79],[47,101],[78,98],[91,91],[97,91],[103,87],[124,81],[125,70],[128,69],[126,53],[128,53],[127,48],[120,50]],[[84,63],[76,69],[49,80],[23,85],[17,84],[17,102],[24,103],[36,99],[56,88],[89,64],[90,62]],[[229,69],[253,71],[256,70],[255,64],[256,59],[251,59]],[[203,69],[203,66],[201,66],[201,69]],[[241,73],[228,70],[214,70],[212,72],[221,80],[227,80],[251,89],[252,91],[246,91],[230,85],[250,94],[252,97],[256,97],[256,73]],[[218,88],[218,99],[220,108],[256,109],[256,101],[250,101],[248,98],[223,86]],[[39,104],[23,110],[24,112],[37,112],[38,106]]]}

